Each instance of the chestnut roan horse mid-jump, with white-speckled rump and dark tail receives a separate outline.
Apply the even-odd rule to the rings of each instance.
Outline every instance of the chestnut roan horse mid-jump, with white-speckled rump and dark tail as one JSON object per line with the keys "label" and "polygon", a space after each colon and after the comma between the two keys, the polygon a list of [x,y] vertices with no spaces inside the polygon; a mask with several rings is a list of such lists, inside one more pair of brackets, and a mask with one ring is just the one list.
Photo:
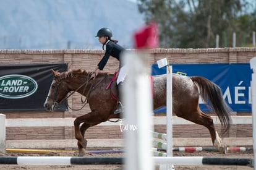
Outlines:
{"label": "chestnut roan horse mid-jump, with white-speckled rump and dark tail", "polygon": [[[116,83],[114,82],[106,90],[113,74],[102,72],[95,79],[90,79],[90,72],[82,69],[61,73],[52,70],[52,72],[54,79],[44,104],[48,111],[54,111],[58,104],[67,98],[70,91],[77,91],[85,96],[90,106],[90,113],[77,117],[74,121],[79,156],[83,156],[87,147],[85,130],[111,118],[119,118],[119,114],[114,114],[117,101],[111,95],[113,93],[114,96],[118,96]],[[153,108],[166,106],[166,75],[153,76],[153,87]],[[213,120],[198,106],[199,96],[202,96],[203,101],[210,103],[213,112],[220,119],[221,135],[228,132],[231,123],[229,116],[231,110],[223,100],[220,87],[203,77],[173,74],[173,113],[178,117],[207,127],[213,146],[219,151],[224,151],[224,145],[215,129]],[[82,125],[80,126],[80,124]]]}

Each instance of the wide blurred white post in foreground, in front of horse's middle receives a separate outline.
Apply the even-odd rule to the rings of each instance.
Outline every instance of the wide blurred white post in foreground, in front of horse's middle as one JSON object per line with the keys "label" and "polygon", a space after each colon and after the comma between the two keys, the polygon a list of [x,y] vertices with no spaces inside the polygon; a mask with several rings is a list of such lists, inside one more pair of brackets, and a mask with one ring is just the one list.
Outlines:
{"label": "wide blurred white post in foreground, in front of horse's middle", "polygon": [[127,119],[125,165],[127,170],[153,170],[151,95],[149,54],[124,54],[127,79],[124,83],[124,117]]}

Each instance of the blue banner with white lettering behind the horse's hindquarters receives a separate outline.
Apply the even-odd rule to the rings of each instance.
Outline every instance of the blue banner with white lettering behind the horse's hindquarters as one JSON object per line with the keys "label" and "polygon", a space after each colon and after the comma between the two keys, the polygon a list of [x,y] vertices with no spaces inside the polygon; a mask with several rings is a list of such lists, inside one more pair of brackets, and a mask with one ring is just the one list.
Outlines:
{"label": "blue banner with white lettering behind the horse's hindquarters", "polygon": [[[223,98],[233,111],[252,111],[252,98],[250,81],[252,70],[250,64],[173,64],[173,73],[186,76],[202,76],[220,86]],[[151,75],[166,74],[166,67],[158,68],[152,65]],[[200,103],[202,111],[208,111],[205,104]],[[157,109],[157,112],[166,112],[165,108]]]}

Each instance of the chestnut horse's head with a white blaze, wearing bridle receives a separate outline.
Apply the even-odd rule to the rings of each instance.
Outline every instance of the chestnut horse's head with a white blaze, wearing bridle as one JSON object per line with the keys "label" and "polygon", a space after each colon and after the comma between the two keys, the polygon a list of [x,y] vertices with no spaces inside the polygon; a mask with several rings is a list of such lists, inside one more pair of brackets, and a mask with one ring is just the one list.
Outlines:
{"label": "chestnut horse's head with a white blaze, wearing bridle", "polygon": [[44,104],[47,111],[54,111],[58,104],[66,98],[67,93],[69,92],[65,87],[65,82],[61,74],[54,70],[51,70],[51,72],[53,72],[54,79]]}

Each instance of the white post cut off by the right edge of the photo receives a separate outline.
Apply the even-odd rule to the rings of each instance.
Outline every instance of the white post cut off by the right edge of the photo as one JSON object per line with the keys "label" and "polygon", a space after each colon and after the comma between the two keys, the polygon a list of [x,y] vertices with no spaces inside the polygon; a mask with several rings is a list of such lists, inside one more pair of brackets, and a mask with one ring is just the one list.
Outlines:
{"label": "white post cut off by the right edge of the photo", "polygon": [[254,148],[254,161],[253,166],[255,169],[256,162],[256,57],[250,59],[250,69],[253,70],[252,82],[250,82],[250,87],[252,88],[252,138],[253,138],[253,148]]}

